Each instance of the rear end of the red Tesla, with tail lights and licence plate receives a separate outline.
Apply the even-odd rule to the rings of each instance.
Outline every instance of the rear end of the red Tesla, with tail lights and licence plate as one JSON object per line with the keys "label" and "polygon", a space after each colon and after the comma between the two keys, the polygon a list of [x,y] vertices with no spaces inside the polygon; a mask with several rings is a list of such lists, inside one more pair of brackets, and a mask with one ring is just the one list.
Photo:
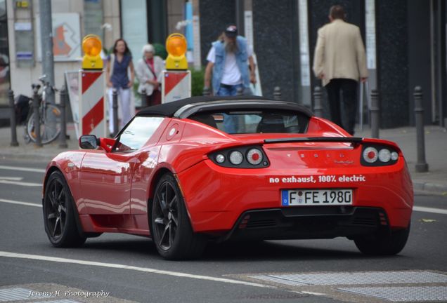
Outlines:
{"label": "rear end of the red Tesla, with tail lights and licence plate", "polygon": [[344,236],[363,253],[403,249],[413,186],[394,142],[282,110],[208,110],[197,120],[207,115],[222,130],[219,118],[233,116],[240,130],[177,175],[195,232],[219,241]]}

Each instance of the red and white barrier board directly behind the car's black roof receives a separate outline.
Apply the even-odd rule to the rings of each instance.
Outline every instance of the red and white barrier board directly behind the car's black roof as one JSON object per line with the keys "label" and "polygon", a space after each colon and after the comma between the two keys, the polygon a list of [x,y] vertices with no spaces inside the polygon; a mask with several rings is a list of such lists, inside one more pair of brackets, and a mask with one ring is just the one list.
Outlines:
{"label": "red and white barrier board directly behind the car's black roof", "polygon": [[181,100],[191,96],[190,71],[162,72],[162,103]]}

